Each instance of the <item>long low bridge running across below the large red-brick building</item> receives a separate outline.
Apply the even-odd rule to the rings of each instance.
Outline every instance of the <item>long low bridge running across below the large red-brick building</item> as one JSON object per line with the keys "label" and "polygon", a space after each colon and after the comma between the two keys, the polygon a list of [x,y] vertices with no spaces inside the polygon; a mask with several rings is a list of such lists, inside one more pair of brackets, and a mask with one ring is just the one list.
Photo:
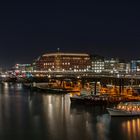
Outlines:
{"label": "long low bridge running across below the large red-brick building", "polygon": [[[140,85],[139,74],[109,74],[109,73],[94,73],[92,71],[26,71],[31,77],[16,77],[17,79],[25,80],[61,80],[71,79],[72,81],[81,80],[85,82],[100,82],[101,84],[113,85]],[[9,76],[10,77],[10,76]]]}

